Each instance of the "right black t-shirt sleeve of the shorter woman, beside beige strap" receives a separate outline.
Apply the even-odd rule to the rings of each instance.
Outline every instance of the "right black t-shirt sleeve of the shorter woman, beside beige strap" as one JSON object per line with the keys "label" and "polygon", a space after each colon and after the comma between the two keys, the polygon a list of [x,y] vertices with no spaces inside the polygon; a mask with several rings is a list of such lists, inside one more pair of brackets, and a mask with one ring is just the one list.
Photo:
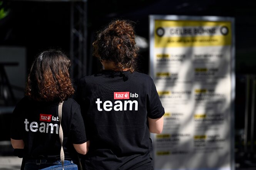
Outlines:
{"label": "right black t-shirt sleeve of the shorter woman, beside beige strap", "polygon": [[74,112],[72,114],[70,132],[73,144],[82,144],[87,141],[84,121],[81,115],[79,105],[75,107]]}

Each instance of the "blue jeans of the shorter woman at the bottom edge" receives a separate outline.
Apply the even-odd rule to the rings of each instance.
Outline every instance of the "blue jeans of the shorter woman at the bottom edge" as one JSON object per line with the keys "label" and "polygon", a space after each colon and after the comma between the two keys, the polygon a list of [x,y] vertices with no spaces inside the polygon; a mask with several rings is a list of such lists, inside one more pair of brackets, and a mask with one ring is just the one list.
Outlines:
{"label": "blue jeans of the shorter woman at the bottom edge", "polygon": [[[77,165],[73,161],[64,161],[65,170],[78,170]],[[24,170],[62,170],[61,161],[41,160],[27,160]]]}

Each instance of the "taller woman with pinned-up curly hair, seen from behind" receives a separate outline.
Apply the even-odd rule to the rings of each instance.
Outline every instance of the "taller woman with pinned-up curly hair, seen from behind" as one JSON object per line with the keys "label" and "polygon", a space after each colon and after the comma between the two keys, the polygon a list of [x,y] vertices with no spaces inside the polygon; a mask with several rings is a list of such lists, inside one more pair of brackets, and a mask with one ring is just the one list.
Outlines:
{"label": "taller woman with pinned-up curly hair, seen from behind", "polygon": [[136,71],[138,48],[132,21],[115,20],[93,43],[104,66],[80,79],[81,106],[90,150],[85,169],[152,170],[150,133],[161,133],[164,108],[150,76]]}

